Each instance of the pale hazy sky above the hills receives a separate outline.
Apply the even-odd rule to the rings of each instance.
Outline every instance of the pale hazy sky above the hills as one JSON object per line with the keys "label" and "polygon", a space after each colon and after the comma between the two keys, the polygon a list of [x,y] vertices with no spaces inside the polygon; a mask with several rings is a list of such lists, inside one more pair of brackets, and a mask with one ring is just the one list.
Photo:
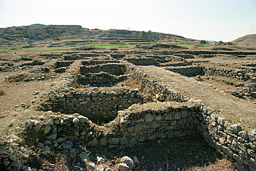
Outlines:
{"label": "pale hazy sky above the hills", "polygon": [[256,0],[0,0],[0,28],[33,23],[232,41],[256,34]]}

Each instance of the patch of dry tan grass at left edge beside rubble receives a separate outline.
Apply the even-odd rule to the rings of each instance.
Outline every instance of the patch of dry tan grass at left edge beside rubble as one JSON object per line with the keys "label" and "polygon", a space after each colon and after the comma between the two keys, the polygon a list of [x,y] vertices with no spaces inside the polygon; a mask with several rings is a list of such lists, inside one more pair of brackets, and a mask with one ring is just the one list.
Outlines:
{"label": "patch of dry tan grass at left edge beside rubble", "polygon": [[[33,92],[43,93],[48,90],[52,81],[30,81],[19,83],[6,83],[4,77],[14,74],[13,72],[0,72],[1,91],[4,95],[0,96],[0,137],[11,134],[21,123],[25,123],[31,115],[39,116],[42,111],[36,111],[33,106],[39,101],[39,96]],[[21,104],[26,104],[21,108]],[[15,106],[18,107],[15,107]]]}

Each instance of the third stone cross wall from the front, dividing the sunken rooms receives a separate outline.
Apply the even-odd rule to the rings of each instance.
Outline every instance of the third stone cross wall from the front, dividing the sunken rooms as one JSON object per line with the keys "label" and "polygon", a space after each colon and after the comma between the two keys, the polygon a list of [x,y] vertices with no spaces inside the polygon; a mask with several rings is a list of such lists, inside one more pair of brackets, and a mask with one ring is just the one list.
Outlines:
{"label": "third stone cross wall from the front, dividing the sunken rooms", "polygon": [[97,74],[84,74],[84,75],[78,75],[77,76],[77,83],[80,83],[81,85],[86,84],[97,84],[106,86],[107,84],[113,85],[120,81],[125,81],[127,79],[127,76],[125,75],[112,75],[108,74],[106,72],[100,72]]}

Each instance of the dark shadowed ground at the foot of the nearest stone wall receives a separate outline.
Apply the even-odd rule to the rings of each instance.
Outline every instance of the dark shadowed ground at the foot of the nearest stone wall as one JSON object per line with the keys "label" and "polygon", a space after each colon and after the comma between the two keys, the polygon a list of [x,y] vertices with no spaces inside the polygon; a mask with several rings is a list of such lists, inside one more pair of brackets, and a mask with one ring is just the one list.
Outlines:
{"label": "dark shadowed ground at the foot of the nearest stone wall", "polygon": [[140,165],[136,170],[186,170],[194,166],[210,165],[221,156],[199,136],[175,137],[147,141],[132,148],[101,149],[87,148],[94,154],[111,160],[136,156]]}

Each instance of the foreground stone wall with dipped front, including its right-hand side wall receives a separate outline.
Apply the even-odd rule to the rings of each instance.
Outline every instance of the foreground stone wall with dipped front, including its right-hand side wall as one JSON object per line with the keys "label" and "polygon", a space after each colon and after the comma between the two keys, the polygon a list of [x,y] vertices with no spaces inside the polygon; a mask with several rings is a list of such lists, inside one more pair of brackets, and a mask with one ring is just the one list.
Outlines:
{"label": "foreground stone wall with dipped front, including its right-hand side wall", "polygon": [[77,156],[80,145],[124,148],[154,139],[201,134],[239,170],[255,170],[256,130],[248,133],[239,124],[231,125],[217,110],[208,111],[202,104],[161,104],[165,107],[133,105],[118,111],[116,119],[103,126],[77,113],[30,119],[25,123],[27,139],[43,153],[69,156],[75,151],[73,156]]}

